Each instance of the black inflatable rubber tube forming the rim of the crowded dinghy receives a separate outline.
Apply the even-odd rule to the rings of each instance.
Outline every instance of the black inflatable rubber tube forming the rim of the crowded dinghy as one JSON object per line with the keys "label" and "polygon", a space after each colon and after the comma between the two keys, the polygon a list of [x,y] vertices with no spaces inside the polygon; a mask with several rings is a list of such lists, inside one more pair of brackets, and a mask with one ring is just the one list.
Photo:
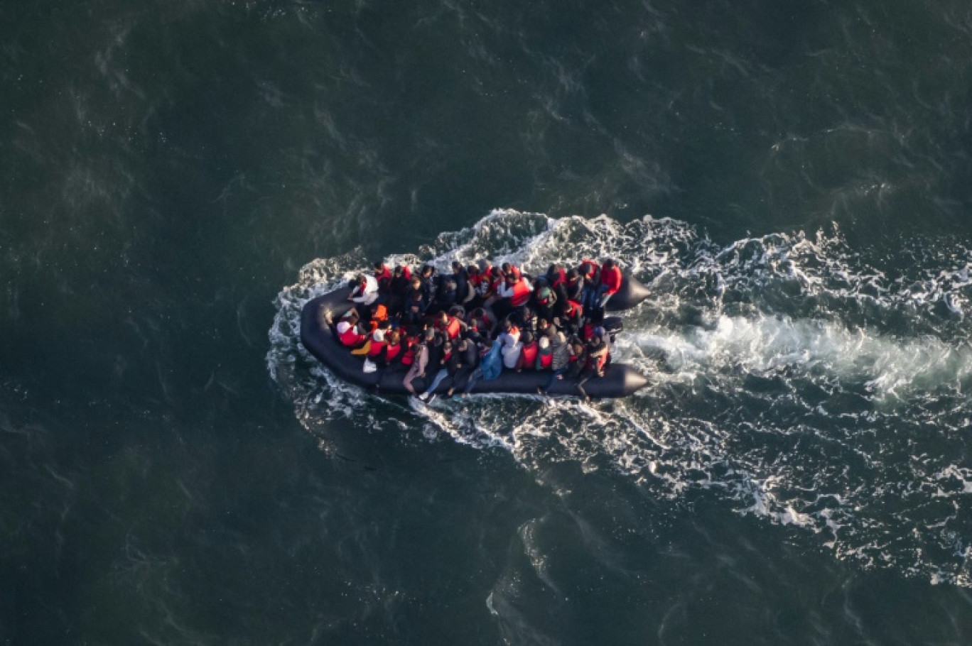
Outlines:
{"label": "black inflatable rubber tube forming the rim of the crowded dinghy", "polygon": [[[622,285],[621,290],[608,301],[608,309],[620,309],[621,303],[631,302],[635,298],[637,302],[641,302],[646,295],[646,289],[641,283],[638,283],[638,286],[641,290],[630,289],[627,292],[635,295],[625,296],[625,299],[615,304],[615,298],[625,289]],[[364,372],[362,369],[364,359],[351,355],[334,336],[330,326],[324,323],[324,313],[330,312],[331,317],[336,321],[348,311],[351,306],[347,300],[350,293],[350,288],[335,289],[308,301],[300,315],[300,343],[311,355],[317,357],[346,382],[368,389],[378,388],[382,392],[407,394],[408,391],[402,385],[402,379],[407,371],[405,366],[393,365],[386,370]],[[610,307],[612,304],[615,304],[615,308]],[[504,369],[496,379],[476,382],[472,392],[536,393],[538,387],[546,386],[550,374],[549,371],[524,370],[517,373]],[[430,368],[426,373],[426,384],[431,383],[433,376],[434,370]],[[424,390],[421,381],[415,380],[413,386],[416,389],[422,387]],[[612,363],[608,366],[604,377],[590,380],[584,384],[584,390],[592,397],[623,397],[644,388],[647,383],[648,380],[630,365]],[[436,392],[448,391],[449,386],[450,380],[446,379]],[[579,394],[573,381],[570,380],[558,381],[549,392],[550,394]]]}

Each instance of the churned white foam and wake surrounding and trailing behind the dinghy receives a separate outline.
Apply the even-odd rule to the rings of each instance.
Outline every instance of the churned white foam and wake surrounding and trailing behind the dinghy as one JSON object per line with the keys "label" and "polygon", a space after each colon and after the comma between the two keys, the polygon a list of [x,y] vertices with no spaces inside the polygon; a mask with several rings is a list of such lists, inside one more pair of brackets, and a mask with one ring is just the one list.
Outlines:
{"label": "churned white foam and wake surrounding and trailing behind the dinghy", "polygon": [[[400,405],[334,379],[299,345],[309,298],[367,266],[315,260],[281,291],[267,357],[297,414],[369,428],[421,428],[503,447],[542,473],[555,461],[611,468],[682,504],[718,496],[740,513],[802,527],[863,566],[972,585],[972,254],[912,241],[851,250],[832,227],[720,247],[684,222],[551,220],[495,211],[392,260],[550,262],[614,257],[652,289],[626,313],[616,356],[651,383],[585,405],[471,397]],[[405,435],[408,435],[406,433]]]}

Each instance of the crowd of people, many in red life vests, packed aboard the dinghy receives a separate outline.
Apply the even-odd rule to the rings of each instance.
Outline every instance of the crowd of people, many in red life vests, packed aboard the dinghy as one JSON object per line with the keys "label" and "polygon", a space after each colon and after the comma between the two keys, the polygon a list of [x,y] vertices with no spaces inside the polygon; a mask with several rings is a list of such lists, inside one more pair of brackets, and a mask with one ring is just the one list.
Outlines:
{"label": "crowd of people, many in red life vests, packed aboard the dinghy", "polygon": [[422,390],[423,400],[446,380],[449,395],[465,396],[502,370],[544,371],[550,378],[538,392],[566,379],[589,399],[584,385],[603,377],[610,362],[610,330],[602,323],[622,282],[613,260],[553,264],[536,278],[486,259],[451,269],[376,262],[372,274],[353,281],[353,307],[336,322],[325,315],[325,323],[364,357],[366,369],[404,366],[404,388]]}

